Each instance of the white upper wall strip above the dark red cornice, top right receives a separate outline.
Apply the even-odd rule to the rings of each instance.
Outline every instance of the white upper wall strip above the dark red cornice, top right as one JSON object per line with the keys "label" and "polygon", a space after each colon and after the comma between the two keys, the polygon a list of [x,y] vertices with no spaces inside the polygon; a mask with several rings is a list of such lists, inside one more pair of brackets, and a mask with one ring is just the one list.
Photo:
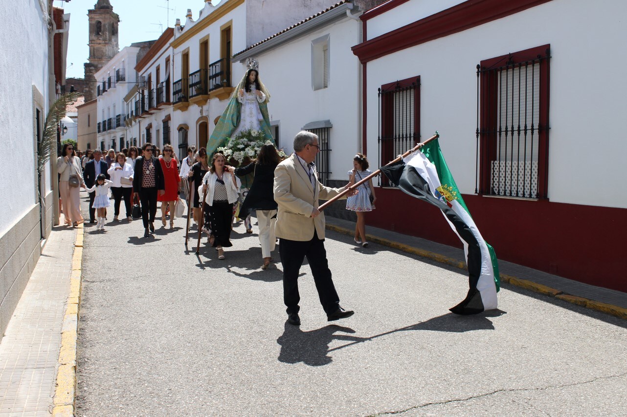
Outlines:
{"label": "white upper wall strip above the dark red cornice, top right", "polygon": [[411,0],[390,9],[386,13],[379,14],[367,23],[368,39],[376,38],[384,33],[402,28],[420,19],[431,16],[466,0]]}

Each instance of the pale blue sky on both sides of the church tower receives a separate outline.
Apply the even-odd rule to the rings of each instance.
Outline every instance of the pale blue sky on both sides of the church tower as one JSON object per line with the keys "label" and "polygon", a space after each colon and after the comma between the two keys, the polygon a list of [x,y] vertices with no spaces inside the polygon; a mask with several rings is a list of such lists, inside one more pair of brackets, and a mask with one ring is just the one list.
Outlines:
{"label": "pale blue sky on both sides of the church tower", "polygon": [[[83,78],[83,64],[89,57],[89,21],[87,11],[93,9],[97,0],[54,0],[57,8],[70,13],[70,37],[68,40],[68,60],[65,76]],[[213,0],[218,5],[224,0]],[[204,6],[204,0],[110,0],[113,11],[120,16],[120,49],[134,42],[157,39],[169,26],[174,28],[176,19],[185,21],[187,9],[192,9],[192,18],[197,19]],[[168,10],[170,9],[170,10]],[[169,13],[169,16],[168,16]]]}

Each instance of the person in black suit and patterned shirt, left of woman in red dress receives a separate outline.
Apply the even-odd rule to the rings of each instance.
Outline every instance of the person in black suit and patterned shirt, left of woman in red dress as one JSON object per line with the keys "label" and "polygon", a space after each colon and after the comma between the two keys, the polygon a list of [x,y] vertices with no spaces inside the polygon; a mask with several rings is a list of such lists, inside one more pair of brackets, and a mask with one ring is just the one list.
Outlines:
{"label": "person in black suit and patterned shirt, left of woman in red dress", "polygon": [[144,151],[143,155],[135,160],[133,189],[135,195],[139,195],[139,201],[142,203],[144,237],[149,237],[150,232],[155,231],[157,192],[159,195],[164,195],[166,193],[166,183],[164,182],[161,163],[152,156],[154,152],[152,143],[144,143],[142,151]]}

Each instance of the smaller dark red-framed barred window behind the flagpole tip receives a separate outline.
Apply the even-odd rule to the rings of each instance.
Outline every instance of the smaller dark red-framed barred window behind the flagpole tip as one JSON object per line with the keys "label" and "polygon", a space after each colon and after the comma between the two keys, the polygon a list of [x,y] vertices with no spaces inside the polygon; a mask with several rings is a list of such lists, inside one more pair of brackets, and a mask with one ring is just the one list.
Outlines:
{"label": "smaller dark red-framed barred window behind the flagpole tip", "polygon": [[[379,162],[386,165],[420,141],[420,77],[379,88]],[[386,177],[377,185],[396,187]]]}

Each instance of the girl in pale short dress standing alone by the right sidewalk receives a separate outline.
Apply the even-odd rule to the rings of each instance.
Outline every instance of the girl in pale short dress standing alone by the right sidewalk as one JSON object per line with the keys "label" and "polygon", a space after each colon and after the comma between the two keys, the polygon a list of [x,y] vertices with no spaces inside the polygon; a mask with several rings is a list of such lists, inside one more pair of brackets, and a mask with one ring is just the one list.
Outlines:
{"label": "girl in pale short dress standing alone by the right sidewalk", "polygon": [[[368,169],[370,164],[363,153],[357,153],[353,158],[353,168],[349,171],[349,183],[350,185],[360,182],[366,178],[372,172]],[[359,192],[355,195],[351,195],[346,200],[346,210],[351,210],[357,215],[357,224],[355,225],[355,243],[362,245],[362,247],[368,247],[366,242],[366,212],[374,210],[374,203],[377,201],[376,195],[374,195],[374,185],[372,185],[372,178],[367,180],[359,187]],[[371,200],[372,196],[372,200]]]}

